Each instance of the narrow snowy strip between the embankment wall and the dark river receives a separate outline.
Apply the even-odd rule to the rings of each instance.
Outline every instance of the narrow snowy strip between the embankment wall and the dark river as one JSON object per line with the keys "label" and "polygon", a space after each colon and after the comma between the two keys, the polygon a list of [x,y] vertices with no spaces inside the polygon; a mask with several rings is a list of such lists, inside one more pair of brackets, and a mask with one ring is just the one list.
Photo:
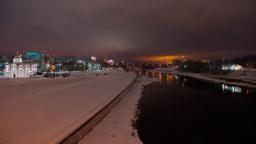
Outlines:
{"label": "narrow snowy strip between the embankment wall and the dark river", "polygon": [[131,126],[131,121],[135,120],[136,105],[143,91],[143,85],[154,81],[159,79],[137,75],[137,80],[130,92],[89,134],[79,141],[79,144],[142,144],[137,130]]}

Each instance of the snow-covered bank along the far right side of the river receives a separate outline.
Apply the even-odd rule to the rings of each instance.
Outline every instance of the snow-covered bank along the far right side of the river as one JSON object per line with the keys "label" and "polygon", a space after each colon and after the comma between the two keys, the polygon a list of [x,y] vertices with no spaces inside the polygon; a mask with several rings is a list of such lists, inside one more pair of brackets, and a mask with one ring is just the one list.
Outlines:
{"label": "snow-covered bank along the far right side of the river", "polygon": [[256,85],[251,85],[251,84],[244,84],[244,83],[238,83],[238,82],[227,82],[221,79],[216,79],[216,78],[210,78],[209,76],[204,76],[200,75],[198,73],[192,73],[192,72],[179,72],[175,68],[157,68],[154,70],[150,70],[150,72],[163,72],[163,73],[172,73],[172,74],[177,74],[177,75],[184,75],[184,76],[189,76],[205,81],[213,81],[215,83],[222,83],[222,84],[230,84],[234,86],[244,86],[248,88],[253,88],[256,89]]}

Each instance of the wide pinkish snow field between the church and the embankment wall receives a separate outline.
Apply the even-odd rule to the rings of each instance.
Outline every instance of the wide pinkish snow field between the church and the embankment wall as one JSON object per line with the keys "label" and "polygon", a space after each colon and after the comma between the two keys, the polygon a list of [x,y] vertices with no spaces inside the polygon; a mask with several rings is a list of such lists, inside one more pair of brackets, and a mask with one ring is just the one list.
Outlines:
{"label": "wide pinkish snow field between the church and the embankment wall", "polygon": [[58,143],[111,102],[135,76],[114,72],[0,79],[0,144]]}

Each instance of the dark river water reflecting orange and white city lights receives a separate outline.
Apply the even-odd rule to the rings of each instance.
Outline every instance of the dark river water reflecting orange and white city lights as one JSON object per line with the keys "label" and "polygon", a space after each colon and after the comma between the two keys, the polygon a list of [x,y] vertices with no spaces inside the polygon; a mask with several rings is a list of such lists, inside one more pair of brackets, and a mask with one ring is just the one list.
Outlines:
{"label": "dark river water reflecting orange and white city lights", "polygon": [[180,75],[137,72],[149,84],[136,127],[144,144],[256,144],[256,91]]}

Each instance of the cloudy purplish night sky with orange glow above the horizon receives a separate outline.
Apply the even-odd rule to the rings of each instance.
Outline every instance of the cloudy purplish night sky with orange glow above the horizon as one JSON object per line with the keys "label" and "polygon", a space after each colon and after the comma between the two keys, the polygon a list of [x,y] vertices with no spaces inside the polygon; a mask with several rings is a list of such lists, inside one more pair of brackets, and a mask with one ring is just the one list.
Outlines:
{"label": "cloudy purplish night sky with orange glow above the horizon", "polygon": [[0,0],[0,55],[125,61],[256,54],[256,0]]}

